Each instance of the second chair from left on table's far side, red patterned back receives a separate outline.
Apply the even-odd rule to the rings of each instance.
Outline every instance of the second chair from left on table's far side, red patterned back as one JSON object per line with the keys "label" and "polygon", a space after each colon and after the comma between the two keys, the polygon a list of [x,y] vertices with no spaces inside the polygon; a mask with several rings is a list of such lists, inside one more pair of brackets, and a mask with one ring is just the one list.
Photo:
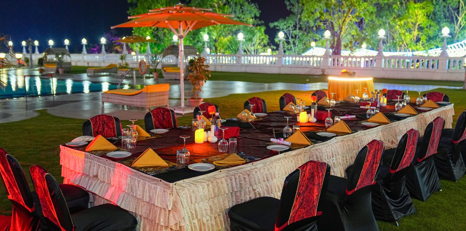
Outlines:
{"label": "second chair from left on table's far side, red patterned back", "polygon": [[171,129],[177,127],[175,112],[167,108],[155,108],[144,116],[145,130]]}

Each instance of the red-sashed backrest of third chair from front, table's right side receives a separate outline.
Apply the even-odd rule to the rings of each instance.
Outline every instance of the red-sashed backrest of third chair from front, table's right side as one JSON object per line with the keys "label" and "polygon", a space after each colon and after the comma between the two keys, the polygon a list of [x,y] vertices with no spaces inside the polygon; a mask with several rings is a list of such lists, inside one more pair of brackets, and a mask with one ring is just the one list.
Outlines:
{"label": "red-sashed backrest of third chair from front, table's right side", "polygon": [[395,173],[410,166],[414,154],[416,153],[418,139],[419,131],[416,129],[410,129],[401,136],[393,159],[391,160],[390,173]]}

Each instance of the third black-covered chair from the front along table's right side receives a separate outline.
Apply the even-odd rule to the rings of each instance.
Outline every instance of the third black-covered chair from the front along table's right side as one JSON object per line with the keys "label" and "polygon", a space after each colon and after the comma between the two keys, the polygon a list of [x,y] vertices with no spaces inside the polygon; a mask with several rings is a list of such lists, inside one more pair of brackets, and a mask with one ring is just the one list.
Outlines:
{"label": "third black-covered chair from the front along table's right side", "polygon": [[414,158],[419,131],[410,129],[396,149],[387,149],[372,189],[372,211],[377,220],[396,222],[416,213],[405,186],[405,176]]}

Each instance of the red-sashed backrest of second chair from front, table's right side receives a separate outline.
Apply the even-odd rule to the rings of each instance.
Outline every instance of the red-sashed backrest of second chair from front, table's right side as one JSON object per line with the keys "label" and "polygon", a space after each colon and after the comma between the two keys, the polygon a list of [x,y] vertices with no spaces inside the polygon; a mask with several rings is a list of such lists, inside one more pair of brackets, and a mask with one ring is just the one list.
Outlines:
{"label": "red-sashed backrest of second chair from front, table's right side", "polygon": [[372,140],[358,152],[354,160],[353,171],[348,176],[347,195],[376,183],[375,178],[382,163],[384,147],[384,142]]}

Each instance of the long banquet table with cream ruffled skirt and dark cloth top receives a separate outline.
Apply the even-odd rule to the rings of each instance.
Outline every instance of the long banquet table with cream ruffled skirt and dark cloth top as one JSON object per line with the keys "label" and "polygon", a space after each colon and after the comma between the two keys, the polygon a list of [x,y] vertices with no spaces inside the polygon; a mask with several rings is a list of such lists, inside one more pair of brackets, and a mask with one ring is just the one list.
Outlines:
{"label": "long banquet table with cream ruffled skirt and dark cloth top", "polygon": [[[412,104],[411,104],[412,105]],[[415,106],[415,105],[413,105]],[[319,108],[324,110],[324,108]],[[325,129],[322,121],[315,123],[296,122],[311,141],[311,145],[292,144],[290,149],[277,152],[267,149],[270,138],[282,137],[286,125],[284,111],[268,113],[254,122],[229,119],[226,126],[239,126],[238,150],[260,157],[231,168],[196,172],[188,168],[167,171],[154,176],[143,169],[131,168],[130,163],[145,149],[151,147],[166,161],[176,163],[176,149],[183,147],[180,135],[193,131],[185,128],[170,129],[162,135],[137,142],[132,156],[124,160],[85,152],[85,147],[60,146],[60,164],[64,183],[83,187],[93,195],[94,204],[113,203],[130,211],[137,217],[137,230],[228,230],[227,211],[235,204],[256,197],[280,198],[285,177],[309,160],[328,163],[331,174],[344,177],[345,169],[353,163],[357,152],[373,139],[384,141],[385,148],[394,148],[403,134],[411,128],[418,129],[421,136],[425,126],[436,117],[445,119],[445,127],[451,128],[453,104],[406,118],[393,115],[394,106],[380,108],[391,123],[369,128],[365,121],[366,109],[359,104],[341,102],[334,107],[333,115],[356,115],[344,120],[352,133],[335,137],[321,137],[315,133]],[[219,155],[217,143],[195,144],[187,139],[186,148],[191,152],[191,161]]]}

